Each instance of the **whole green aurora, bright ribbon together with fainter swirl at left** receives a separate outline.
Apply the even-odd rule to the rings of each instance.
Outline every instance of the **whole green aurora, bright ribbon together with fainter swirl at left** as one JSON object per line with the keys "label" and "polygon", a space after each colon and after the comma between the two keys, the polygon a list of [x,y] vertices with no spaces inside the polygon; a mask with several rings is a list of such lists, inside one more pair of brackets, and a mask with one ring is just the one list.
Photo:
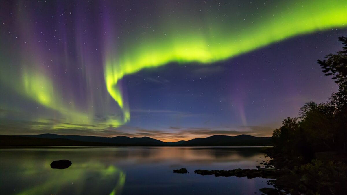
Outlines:
{"label": "whole green aurora, bright ribbon together with fainter swirl at left", "polygon": [[[102,45],[100,58],[104,80],[101,79],[100,83],[94,78],[95,71],[91,68],[96,67],[92,61],[93,57],[88,56],[88,51],[81,49],[82,27],[79,29],[82,33],[76,30],[75,35],[62,31],[68,37],[66,40],[73,39],[76,42],[78,59],[71,62],[68,54],[62,54],[56,61],[61,60],[61,64],[65,63],[65,66],[69,63],[83,66],[85,72],[82,76],[69,76],[76,76],[87,86],[91,86],[88,89],[91,93],[89,96],[85,95],[83,109],[82,101],[79,101],[78,97],[78,93],[82,94],[81,91],[76,93],[53,79],[54,73],[45,64],[45,59],[48,59],[47,55],[44,55],[46,48],[38,46],[39,43],[24,44],[27,40],[39,40],[40,32],[35,32],[32,22],[34,19],[27,14],[29,11],[26,11],[23,3],[18,3],[18,10],[21,12],[16,13],[16,26],[18,32],[22,33],[23,45],[19,49],[22,52],[18,52],[18,59],[8,58],[8,50],[11,48],[5,48],[6,41],[2,40],[4,44],[0,45],[1,87],[11,89],[46,109],[40,113],[42,116],[31,115],[32,118],[28,119],[35,121],[33,126],[36,129],[102,131],[119,127],[130,120],[129,105],[120,82],[127,75],[169,63],[213,65],[214,62],[227,60],[290,37],[347,26],[346,0],[257,1],[247,2],[247,6],[244,7],[239,6],[245,4],[243,1],[226,2],[187,1],[177,8],[177,5],[170,4],[170,1],[162,0],[155,5],[155,12],[134,16],[131,21],[126,22],[104,15],[91,16],[90,18],[96,18],[95,21],[98,21],[96,23],[100,25],[98,27],[102,34],[90,37],[99,40]],[[112,3],[114,2],[104,2],[105,5],[100,6],[102,11],[111,12],[114,9]],[[85,17],[84,12],[76,12],[76,17]],[[86,24],[89,22],[85,21]],[[89,26],[94,28],[90,24]],[[76,36],[76,39],[69,36]],[[100,37],[102,38],[99,39]],[[66,49],[64,52],[67,53]],[[8,64],[18,64],[18,69],[8,68]],[[13,79],[14,76],[18,79]],[[63,77],[62,80],[70,77]],[[99,86],[103,86],[104,89]],[[120,109],[117,105],[110,107],[112,101],[116,101]],[[0,109],[22,110],[16,106],[0,103]],[[116,117],[95,119],[99,113],[111,112]],[[0,117],[6,118],[6,113],[0,112]]]}

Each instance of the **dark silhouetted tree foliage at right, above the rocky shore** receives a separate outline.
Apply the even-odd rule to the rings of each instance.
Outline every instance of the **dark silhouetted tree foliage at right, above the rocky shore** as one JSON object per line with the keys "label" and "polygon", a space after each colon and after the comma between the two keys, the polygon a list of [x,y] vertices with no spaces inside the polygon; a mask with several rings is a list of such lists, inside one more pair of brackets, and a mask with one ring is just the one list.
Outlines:
{"label": "dark silhouetted tree foliage at right, above the rocky shore", "polygon": [[312,153],[347,151],[347,37],[339,37],[344,46],[336,54],[318,60],[326,76],[339,85],[327,103],[308,102],[301,107],[299,118],[284,119],[273,131],[277,151],[311,160]]}

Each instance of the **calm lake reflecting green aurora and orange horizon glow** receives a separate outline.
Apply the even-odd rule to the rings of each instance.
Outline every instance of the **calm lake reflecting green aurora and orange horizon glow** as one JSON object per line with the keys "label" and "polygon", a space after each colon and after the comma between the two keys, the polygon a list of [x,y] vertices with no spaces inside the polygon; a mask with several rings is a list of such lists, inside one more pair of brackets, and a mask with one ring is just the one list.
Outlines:
{"label": "calm lake reflecting green aurora and orange horizon glow", "polygon": [[[67,159],[67,169],[52,169]],[[260,194],[268,179],[215,177],[194,170],[255,169],[259,147],[32,147],[0,149],[0,194]],[[189,173],[173,173],[186,168]]]}

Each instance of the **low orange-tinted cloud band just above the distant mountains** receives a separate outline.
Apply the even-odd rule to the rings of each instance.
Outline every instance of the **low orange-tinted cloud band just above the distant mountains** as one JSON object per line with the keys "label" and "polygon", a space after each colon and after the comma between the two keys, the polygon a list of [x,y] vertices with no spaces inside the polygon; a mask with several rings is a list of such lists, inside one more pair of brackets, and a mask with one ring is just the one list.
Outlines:
{"label": "low orange-tinted cloud band just above the distant mountains", "polygon": [[[141,112],[141,111],[140,111]],[[154,111],[161,113],[162,111]],[[166,113],[167,111],[164,111]],[[171,111],[169,111],[171,113]],[[174,112],[175,113],[175,112]],[[238,127],[176,127],[170,126],[161,130],[144,129],[139,127],[111,127],[105,124],[72,124],[62,123],[56,120],[16,121],[0,120],[0,134],[27,135],[56,133],[61,135],[90,135],[90,136],[128,136],[128,137],[152,137],[162,141],[189,140],[197,137],[209,137],[212,135],[236,136],[248,134],[253,136],[271,136],[274,128],[268,126],[238,126]]]}

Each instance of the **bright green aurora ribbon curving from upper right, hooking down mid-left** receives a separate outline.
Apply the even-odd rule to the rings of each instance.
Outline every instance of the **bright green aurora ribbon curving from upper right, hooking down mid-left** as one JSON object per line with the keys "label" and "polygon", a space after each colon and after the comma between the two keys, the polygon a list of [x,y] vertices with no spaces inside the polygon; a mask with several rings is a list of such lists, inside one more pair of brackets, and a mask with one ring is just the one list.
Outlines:
{"label": "bright green aurora ribbon curving from upper right, hooking down mid-left", "polygon": [[[162,19],[166,25],[160,26],[159,33],[131,35],[124,41],[128,45],[126,50],[106,55],[105,84],[124,115],[124,121],[118,121],[119,124],[130,119],[117,86],[126,75],[172,62],[211,64],[289,37],[347,25],[347,1],[344,0],[281,1],[263,10],[261,15],[245,15],[247,21],[242,22],[223,18],[223,13],[230,11],[221,7],[218,11],[206,11],[207,24],[192,18],[191,13],[178,12]],[[216,13],[220,13],[218,17]]]}

